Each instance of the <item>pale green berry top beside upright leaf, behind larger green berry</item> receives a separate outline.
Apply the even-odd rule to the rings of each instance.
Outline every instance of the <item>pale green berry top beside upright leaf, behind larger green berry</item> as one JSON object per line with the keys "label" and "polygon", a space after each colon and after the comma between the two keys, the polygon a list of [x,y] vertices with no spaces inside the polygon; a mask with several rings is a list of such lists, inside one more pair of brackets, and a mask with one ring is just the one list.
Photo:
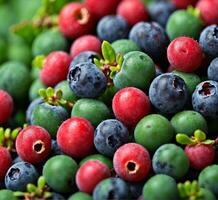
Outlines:
{"label": "pale green berry top beside upright leaf, behind larger green berry", "polygon": [[114,48],[116,54],[120,53],[125,55],[131,51],[140,51],[140,48],[135,42],[127,39],[116,40],[111,44],[111,46]]}

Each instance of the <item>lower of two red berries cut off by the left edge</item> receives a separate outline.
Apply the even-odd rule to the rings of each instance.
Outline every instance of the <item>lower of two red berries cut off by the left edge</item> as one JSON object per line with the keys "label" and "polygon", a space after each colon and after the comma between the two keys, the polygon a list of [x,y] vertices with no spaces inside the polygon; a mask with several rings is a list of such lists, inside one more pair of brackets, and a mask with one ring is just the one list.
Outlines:
{"label": "lower of two red berries cut off by the left edge", "polygon": [[9,151],[0,146],[0,180],[4,180],[7,170],[12,165],[12,158]]}

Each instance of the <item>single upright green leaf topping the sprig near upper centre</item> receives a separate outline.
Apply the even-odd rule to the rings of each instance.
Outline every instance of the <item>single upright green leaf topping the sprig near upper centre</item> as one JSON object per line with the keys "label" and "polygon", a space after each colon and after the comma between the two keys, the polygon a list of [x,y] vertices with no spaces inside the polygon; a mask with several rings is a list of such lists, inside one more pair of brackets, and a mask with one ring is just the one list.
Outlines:
{"label": "single upright green leaf topping the sprig near upper centre", "polygon": [[116,53],[111,44],[107,41],[102,43],[102,55],[110,64],[116,61]]}

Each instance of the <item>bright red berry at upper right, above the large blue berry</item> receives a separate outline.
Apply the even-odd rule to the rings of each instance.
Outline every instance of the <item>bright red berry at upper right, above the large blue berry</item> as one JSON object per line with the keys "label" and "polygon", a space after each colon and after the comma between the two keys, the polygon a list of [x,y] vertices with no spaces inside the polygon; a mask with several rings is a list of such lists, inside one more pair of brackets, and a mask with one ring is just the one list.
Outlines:
{"label": "bright red berry at upper right, above the large blue berry", "polygon": [[175,69],[183,72],[193,72],[201,66],[203,52],[194,39],[178,37],[168,46],[167,57]]}

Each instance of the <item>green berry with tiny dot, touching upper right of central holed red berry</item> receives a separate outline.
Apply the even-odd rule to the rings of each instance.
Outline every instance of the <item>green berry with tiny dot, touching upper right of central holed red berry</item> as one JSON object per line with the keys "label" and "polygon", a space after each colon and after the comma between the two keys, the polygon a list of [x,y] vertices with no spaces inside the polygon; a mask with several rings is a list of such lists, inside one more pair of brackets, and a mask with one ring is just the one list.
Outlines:
{"label": "green berry with tiny dot, touching upper right of central holed red berry", "polygon": [[149,151],[172,141],[174,130],[167,118],[152,114],[142,118],[134,131],[135,141]]}

